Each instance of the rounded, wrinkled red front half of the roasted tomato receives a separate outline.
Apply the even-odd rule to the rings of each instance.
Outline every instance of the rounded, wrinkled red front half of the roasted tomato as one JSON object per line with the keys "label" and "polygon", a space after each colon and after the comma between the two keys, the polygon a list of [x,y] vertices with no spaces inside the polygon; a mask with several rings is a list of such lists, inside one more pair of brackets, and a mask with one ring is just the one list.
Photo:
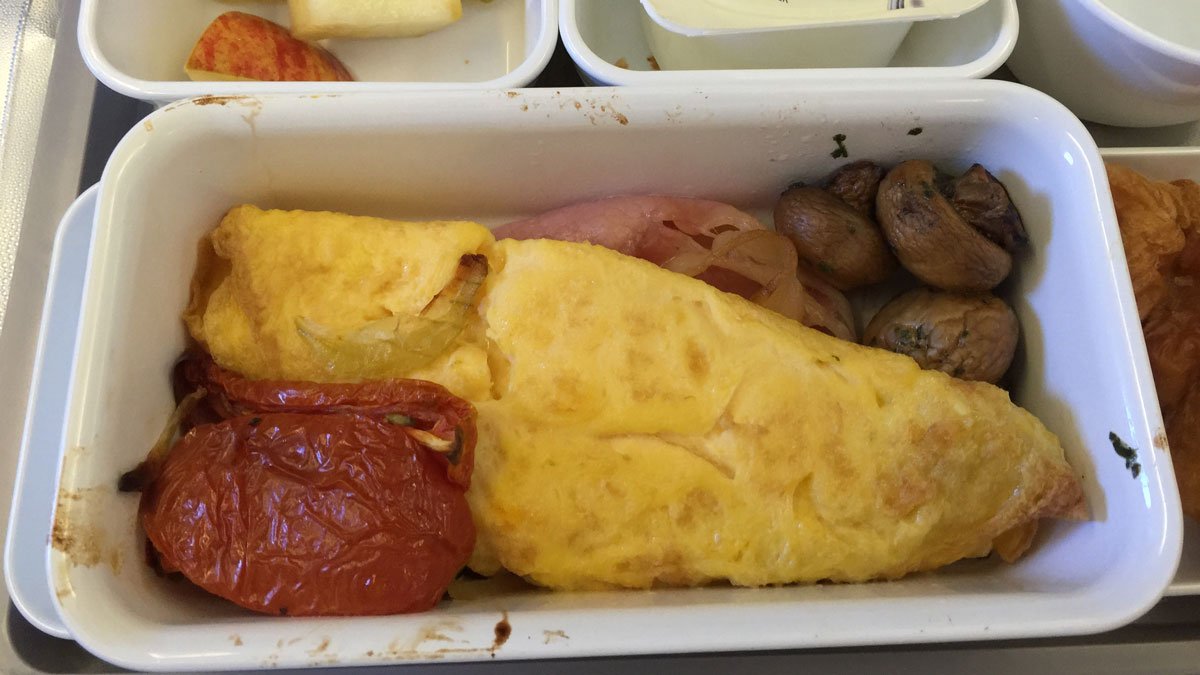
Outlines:
{"label": "rounded, wrinkled red front half of the roasted tomato", "polygon": [[194,428],[142,496],[163,569],[287,616],[424,611],[475,527],[445,461],[354,413],[266,413]]}

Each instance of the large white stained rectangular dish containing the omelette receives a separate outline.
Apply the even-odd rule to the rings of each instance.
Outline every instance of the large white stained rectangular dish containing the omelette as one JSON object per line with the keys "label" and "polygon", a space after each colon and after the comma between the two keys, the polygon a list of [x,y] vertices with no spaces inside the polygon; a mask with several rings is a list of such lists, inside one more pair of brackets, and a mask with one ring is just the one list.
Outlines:
{"label": "large white stained rectangular dish containing the omelette", "polygon": [[[73,359],[55,515],[66,536],[47,560],[70,633],[113,663],[180,670],[1066,635],[1146,611],[1178,562],[1178,495],[1153,447],[1162,419],[1087,132],[1052,100],[996,82],[758,91],[246,97],[148,118],[104,173]],[[1062,438],[1091,521],[1045,527],[1014,566],[971,561],[887,584],[506,591],[371,619],[253,616],[144,565],[137,497],[115,480],[173,407],[196,243],[230,205],[492,225],[658,192],[760,211],[792,180],[838,166],[835,135],[852,159],[982,162],[1007,184],[1034,251],[1010,282],[1025,333],[1014,399]],[[1140,450],[1136,478],[1112,431]]]}

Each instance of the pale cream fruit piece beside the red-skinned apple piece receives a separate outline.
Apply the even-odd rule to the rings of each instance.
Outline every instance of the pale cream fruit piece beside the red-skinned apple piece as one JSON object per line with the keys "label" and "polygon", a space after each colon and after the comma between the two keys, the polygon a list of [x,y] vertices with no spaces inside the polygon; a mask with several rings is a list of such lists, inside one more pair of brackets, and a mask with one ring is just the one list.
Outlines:
{"label": "pale cream fruit piece beside the red-skinned apple piece", "polygon": [[292,34],[326,37],[415,37],[462,17],[462,0],[289,0]]}

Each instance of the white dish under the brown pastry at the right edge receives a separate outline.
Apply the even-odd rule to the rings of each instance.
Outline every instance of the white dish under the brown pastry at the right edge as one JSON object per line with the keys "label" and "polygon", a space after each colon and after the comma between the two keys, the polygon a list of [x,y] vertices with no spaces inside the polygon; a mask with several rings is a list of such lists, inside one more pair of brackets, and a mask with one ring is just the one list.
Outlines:
{"label": "white dish under the brown pastry at the right edge", "polygon": [[[1156,180],[1200,181],[1200,148],[1108,148],[1100,154]],[[1190,518],[1183,519],[1183,555],[1166,595],[1200,595],[1200,522]]]}

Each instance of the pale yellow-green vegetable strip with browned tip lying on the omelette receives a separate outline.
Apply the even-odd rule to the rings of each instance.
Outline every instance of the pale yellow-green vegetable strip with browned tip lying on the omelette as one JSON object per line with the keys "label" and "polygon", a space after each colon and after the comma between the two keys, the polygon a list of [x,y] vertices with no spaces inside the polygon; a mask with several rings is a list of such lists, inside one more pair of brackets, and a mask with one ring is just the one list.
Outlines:
{"label": "pale yellow-green vegetable strip with browned tip lying on the omelette", "polygon": [[467,315],[487,277],[487,258],[466,255],[445,288],[416,316],[390,316],[337,335],[308,319],[296,318],[296,330],[325,369],[342,377],[365,378],[379,372],[410,372],[445,352],[467,325]]}

